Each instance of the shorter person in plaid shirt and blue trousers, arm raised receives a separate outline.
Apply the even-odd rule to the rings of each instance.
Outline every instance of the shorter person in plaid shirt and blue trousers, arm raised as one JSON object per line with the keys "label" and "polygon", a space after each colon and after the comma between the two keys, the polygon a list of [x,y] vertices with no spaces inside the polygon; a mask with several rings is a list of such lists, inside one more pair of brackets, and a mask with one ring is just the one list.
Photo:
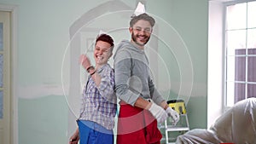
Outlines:
{"label": "shorter person in plaid shirt and blue trousers, arm raised", "polygon": [[108,59],[113,52],[113,38],[101,34],[96,38],[94,59],[91,66],[86,55],[80,56],[82,66],[90,74],[84,86],[82,107],[78,119],[79,128],[71,136],[69,144],[113,144],[116,95],[114,93],[113,68]]}

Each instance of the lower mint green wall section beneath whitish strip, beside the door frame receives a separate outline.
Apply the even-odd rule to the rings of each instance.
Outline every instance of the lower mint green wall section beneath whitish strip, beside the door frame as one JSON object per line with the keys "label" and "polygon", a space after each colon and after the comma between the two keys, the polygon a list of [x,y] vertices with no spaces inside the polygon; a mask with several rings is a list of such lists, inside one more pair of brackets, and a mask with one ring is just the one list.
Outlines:
{"label": "lower mint green wall section beneath whitish strip, beside the door frame", "polygon": [[67,143],[67,103],[63,96],[49,95],[19,101],[19,143]]}

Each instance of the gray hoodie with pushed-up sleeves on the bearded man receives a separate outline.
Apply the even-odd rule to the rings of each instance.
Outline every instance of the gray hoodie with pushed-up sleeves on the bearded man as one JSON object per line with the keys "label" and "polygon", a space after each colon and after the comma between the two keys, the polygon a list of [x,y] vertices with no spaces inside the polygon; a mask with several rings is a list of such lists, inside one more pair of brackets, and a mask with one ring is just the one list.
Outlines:
{"label": "gray hoodie with pushed-up sleeves on the bearded man", "polygon": [[154,88],[148,58],[142,49],[128,40],[119,43],[114,60],[115,90],[120,100],[134,106],[139,96],[160,105],[163,97]]}

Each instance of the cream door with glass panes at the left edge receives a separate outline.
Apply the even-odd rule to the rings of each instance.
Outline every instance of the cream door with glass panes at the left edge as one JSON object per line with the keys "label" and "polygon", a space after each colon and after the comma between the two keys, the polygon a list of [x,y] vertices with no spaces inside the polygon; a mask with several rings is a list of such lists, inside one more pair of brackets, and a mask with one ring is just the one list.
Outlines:
{"label": "cream door with glass panes at the left edge", "polygon": [[10,143],[10,12],[0,11],[0,143]]}

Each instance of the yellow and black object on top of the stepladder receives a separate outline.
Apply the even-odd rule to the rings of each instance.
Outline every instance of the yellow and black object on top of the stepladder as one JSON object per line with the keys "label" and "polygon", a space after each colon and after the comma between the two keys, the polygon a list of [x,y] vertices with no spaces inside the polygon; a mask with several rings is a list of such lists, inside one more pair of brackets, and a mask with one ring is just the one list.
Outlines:
{"label": "yellow and black object on top of the stepladder", "polygon": [[171,100],[167,101],[169,107],[172,107],[173,110],[177,111],[179,114],[187,113],[185,103],[183,100]]}

